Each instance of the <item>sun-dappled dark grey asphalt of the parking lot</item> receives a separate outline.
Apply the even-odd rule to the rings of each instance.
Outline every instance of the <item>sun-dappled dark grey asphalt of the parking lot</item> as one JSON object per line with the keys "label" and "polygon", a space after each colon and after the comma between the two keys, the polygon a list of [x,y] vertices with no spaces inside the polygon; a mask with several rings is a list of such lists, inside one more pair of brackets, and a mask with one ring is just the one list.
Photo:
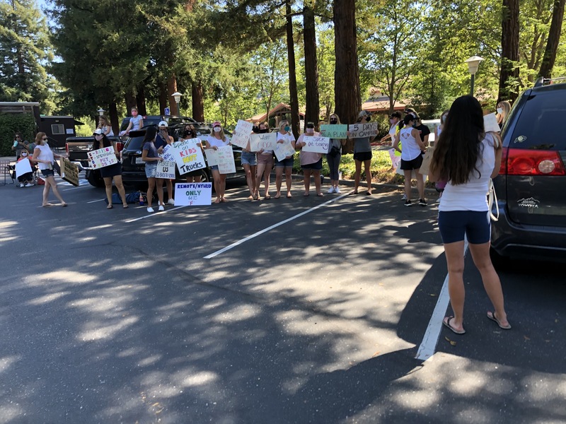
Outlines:
{"label": "sun-dappled dark grey asphalt of the parking lot", "polygon": [[503,331],[467,257],[456,336],[431,322],[432,201],[232,183],[227,204],[149,216],[59,188],[67,208],[0,187],[0,423],[566,422],[563,266],[499,271]]}

